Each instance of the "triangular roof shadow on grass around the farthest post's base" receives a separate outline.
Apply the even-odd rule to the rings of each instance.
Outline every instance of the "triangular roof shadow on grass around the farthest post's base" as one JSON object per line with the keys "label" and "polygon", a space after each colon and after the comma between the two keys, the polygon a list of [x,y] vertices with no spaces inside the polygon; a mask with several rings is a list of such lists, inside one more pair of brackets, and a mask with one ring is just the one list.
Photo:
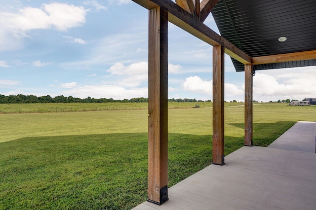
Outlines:
{"label": "triangular roof shadow on grass around the farthest post's base", "polygon": [[[269,146],[296,122],[278,121],[276,123],[253,123],[253,145]],[[244,129],[244,123],[229,123],[229,125]]]}

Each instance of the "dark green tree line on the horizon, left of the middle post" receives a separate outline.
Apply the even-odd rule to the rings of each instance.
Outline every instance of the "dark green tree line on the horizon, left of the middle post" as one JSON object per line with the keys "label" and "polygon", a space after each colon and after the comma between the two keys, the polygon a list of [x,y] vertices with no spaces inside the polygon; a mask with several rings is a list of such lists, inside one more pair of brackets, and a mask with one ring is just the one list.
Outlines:
{"label": "dark green tree line on the horizon, left of the middle post", "polygon": [[[87,97],[85,99],[75,98],[72,96],[65,97],[63,95],[56,96],[52,98],[51,96],[34,96],[34,95],[9,95],[4,96],[0,94],[0,104],[35,104],[35,103],[148,103],[148,98],[140,97],[140,98],[132,98],[132,99],[123,99],[123,100],[115,100],[115,99],[95,99],[91,97]],[[211,102],[211,100],[201,101],[196,99],[168,99],[168,102]]]}

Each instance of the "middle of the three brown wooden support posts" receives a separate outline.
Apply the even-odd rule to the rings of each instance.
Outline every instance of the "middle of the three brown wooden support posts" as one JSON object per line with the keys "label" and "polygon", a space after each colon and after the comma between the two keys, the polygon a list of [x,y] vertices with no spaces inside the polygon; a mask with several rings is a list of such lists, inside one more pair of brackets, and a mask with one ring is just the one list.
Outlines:
{"label": "middle of the three brown wooden support posts", "polygon": [[213,164],[224,162],[224,51],[213,47]]}

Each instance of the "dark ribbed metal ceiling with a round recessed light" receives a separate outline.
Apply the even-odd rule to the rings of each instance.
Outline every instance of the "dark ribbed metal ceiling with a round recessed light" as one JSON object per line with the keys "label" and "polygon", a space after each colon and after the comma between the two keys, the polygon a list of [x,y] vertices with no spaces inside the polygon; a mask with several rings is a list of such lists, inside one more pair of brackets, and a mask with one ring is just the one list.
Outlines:
{"label": "dark ribbed metal ceiling with a round recessed light", "polygon": [[[251,57],[316,50],[316,0],[219,0],[220,34]],[[279,42],[280,36],[287,40]],[[237,71],[244,67],[232,59]],[[256,65],[256,70],[314,66],[316,60]]]}

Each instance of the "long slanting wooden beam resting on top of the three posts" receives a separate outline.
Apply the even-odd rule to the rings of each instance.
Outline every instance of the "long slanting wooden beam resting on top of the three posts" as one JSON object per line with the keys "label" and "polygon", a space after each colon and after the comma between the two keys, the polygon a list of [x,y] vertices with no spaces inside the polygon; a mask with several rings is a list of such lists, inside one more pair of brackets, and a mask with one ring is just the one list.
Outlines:
{"label": "long slanting wooden beam resting on top of the three posts", "polygon": [[[251,64],[251,58],[246,53],[238,49],[234,44],[218,35],[216,32],[208,28],[199,19],[185,11],[179,5],[171,0],[133,0],[134,2],[144,6],[145,8],[155,8],[156,5],[165,8],[168,11],[168,20],[181,29],[189,32],[206,43],[225,47],[225,53],[235,58],[242,64]],[[157,7],[157,6],[156,6]]]}

